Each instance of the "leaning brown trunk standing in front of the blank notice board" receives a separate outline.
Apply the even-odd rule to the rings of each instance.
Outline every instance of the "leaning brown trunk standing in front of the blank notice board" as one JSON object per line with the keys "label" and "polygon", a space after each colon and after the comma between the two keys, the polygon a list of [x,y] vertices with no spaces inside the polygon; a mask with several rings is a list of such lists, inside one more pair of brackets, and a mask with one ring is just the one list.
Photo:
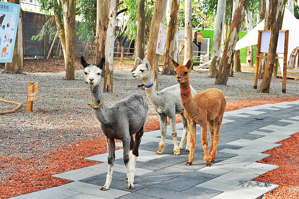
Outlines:
{"label": "leaning brown trunk standing in front of the blank notice board", "polygon": [[260,87],[260,92],[262,93],[269,93],[270,90],[270,83],[271,83],[274,61],[276,56],[276,48],[277,48],[278,33],[280,28],[280,18],[282,13],[283,0],[273,0],[272,5],[273,5],[272,13],[270,18],[272,21],[272,31],[270,37],[268,59],[266,62],[265,72],[263,75],[263,81]]}

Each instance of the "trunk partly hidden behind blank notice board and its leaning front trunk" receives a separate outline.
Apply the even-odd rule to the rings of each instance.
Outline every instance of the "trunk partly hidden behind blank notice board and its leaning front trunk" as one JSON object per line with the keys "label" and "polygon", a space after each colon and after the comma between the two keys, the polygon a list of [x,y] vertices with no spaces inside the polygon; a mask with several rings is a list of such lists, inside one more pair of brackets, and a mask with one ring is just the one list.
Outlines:
{"label": "trunk partly hidden behind blank notice board and its leaning front trunk", "polygon": [[[269,21],[269,16],[271,16],[272,12],[272,4],[274,0],[266,0],[265,6],[265,25],[264,30],[271,30],[271,23]],[[270,17],[271,18],[271,17]],[[260,58],[260,67],[259,67],[259,76],[258,79],[263,79],[265,67],[266,67],[267,58]]]}

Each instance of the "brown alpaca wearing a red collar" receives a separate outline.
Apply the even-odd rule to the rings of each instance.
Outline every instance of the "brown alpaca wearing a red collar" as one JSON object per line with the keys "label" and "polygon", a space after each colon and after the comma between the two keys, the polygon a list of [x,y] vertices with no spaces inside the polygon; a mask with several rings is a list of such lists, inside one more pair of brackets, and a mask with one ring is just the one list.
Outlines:
{"label": "brown alpaca wearing a red collar", "polygon": [[[221,90],[210,88],[192,96],[189,85],[189,70],[192,65],[191,60],[186,65],[180,65],[171,59],[176,74],[176,81],[181,88],[181,101],[184,107],[184,116],[188,121],[190,131],[190,154],[186,165],[192,165],[194,159],[194,148],[196,138],[196,124],[200,125],[202,132],[202,148],[204,149],[204,161],[206,166],[211,166],[215,162],[217,146],[220,138],[220,127],[226,100]],[[208,152],[208,126],[211,135],[211,147]]]}

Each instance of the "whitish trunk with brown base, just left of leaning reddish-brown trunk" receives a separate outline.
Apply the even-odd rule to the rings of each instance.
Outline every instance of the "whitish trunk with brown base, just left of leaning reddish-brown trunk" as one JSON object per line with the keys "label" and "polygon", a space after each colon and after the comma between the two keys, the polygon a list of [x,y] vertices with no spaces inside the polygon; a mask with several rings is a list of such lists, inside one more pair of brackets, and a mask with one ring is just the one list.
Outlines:
{"label": "whitish trunk with brown base, just left of leaning reddish-brown trunk", "polygon": [[222,35],[222,24],[224,23],[225,16],[225,0],[218,0],[217,3],[217,15],[214,28],[214,37],[213,37],[213,46],[212,46],[212,55],[211,55],[211,64],[209,77],[214,78],[217,75],[219,69],[219,64],[221,61],[221,35]]}

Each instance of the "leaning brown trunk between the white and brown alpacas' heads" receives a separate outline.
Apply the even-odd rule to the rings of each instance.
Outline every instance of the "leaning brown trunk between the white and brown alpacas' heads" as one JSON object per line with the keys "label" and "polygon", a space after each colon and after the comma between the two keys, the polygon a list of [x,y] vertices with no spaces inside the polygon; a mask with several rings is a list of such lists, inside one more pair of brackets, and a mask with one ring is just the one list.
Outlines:
{"label": "leaning brown trunk between the white and brown alpacas' heads", "polygon": [[176,50],[176,32],[178,29],[179,0],[172,0],[170,10],[170,21],[166,36],[165,55],[163,61],[162,75],[174,75],[174,66],[170,59],[174,58]]}

